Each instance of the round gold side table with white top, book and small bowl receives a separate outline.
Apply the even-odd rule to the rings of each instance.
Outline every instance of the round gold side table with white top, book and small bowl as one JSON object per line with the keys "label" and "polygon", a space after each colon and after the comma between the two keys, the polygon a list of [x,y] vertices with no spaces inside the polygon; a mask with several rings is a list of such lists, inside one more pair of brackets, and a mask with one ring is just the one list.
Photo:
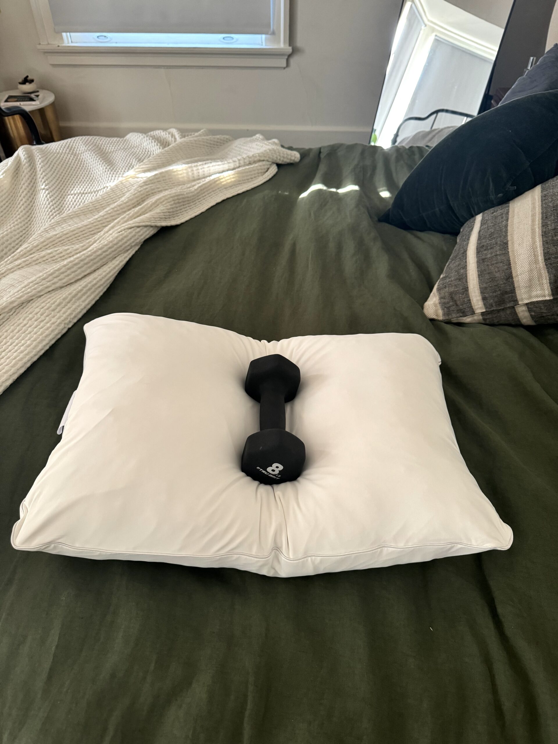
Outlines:
{"label": "round gold side table with white top, book and small bowl", "polygon": [[[0,106],[21,106],[28,111],[35,121],[39,134],[44,142],[58,142],[60,124],[54,106],[54,93],[36,88],[36,81],[28,75],[19,83],[19,89],[0,93]],[[13,155],[22,144],[32,144],[33,139],[27,124],[21,116],[0,117],[1,144],[7,156]]]}

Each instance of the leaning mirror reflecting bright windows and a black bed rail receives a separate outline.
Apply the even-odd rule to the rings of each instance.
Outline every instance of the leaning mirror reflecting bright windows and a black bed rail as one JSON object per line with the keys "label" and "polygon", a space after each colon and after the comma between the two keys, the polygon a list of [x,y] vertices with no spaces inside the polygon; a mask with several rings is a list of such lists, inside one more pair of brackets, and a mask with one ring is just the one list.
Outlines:
{"label": "leaning mirror reflecting bright windows and a black bed rail", "polygon": [[[477,115],[513,0],[404,0],[371,144],[405,144]],[[447,130],[446,130],[447,131]]]}

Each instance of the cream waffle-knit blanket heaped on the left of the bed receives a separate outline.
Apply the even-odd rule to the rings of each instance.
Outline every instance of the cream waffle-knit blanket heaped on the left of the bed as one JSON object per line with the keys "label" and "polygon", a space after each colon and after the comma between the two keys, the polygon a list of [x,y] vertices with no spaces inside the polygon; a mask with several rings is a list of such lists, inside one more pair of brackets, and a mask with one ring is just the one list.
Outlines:
{"label": "cream waffle-knit blanket heaped on the left of the bed", "polygon": [[298,159],[261,135],[233,140],[176,129],[20,147],[0,163],[0,393],[158,228]]}

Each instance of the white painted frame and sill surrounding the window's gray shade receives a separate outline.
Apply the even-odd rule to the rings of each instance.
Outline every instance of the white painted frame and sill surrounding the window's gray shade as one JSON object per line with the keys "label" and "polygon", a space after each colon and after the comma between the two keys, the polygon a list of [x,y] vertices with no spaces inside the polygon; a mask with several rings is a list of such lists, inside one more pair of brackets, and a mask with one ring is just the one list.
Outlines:
{"label": "white painted frame and sill surrounding the window's gray shade", "polygon": [[[71,33],[57,33],[48,0],[30,0],[38,49],[51,65],[95,65],[112,67],[286,67],[289,46],[289,0],[272,0],[273,33],[260,36],[261,43],[224,42],[217,34],[203,42],[126,45],[121,41],[74,42]],[[99,33],[102,33],[102,29]],[[108,30],[107,30],[107,33]],[[115,34],[115,36],[118,36]],[[237,36],[237,35],[236,35]]]}

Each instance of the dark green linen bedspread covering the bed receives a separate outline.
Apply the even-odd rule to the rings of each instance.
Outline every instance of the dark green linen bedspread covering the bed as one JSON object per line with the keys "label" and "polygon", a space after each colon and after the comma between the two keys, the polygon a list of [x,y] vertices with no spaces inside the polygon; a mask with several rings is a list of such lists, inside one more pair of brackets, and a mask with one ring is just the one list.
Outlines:
{"label": "dark green linen bedspread covering the bed", "polygon": [[[424,153],[305,150],[159,231],[0,396],[3,744],[558,742],[558,331],[423,315],[455,241],[376,218]],[[120,311],[256,339],[422,334],[512,547],[295,579],[14,551],[83,324]]]}

